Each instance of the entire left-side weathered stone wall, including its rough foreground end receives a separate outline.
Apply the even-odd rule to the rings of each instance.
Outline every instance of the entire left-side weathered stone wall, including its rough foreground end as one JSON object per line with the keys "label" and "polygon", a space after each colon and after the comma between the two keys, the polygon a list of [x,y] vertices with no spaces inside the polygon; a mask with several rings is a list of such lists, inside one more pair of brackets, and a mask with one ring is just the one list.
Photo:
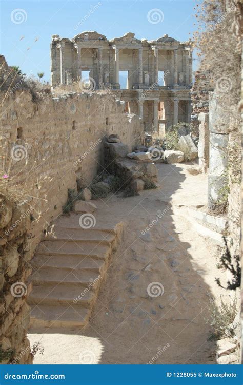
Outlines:
{"label": "entire left-side weathered stone wall, including its rough foreground end", "polygon": [[[29,309],[25,302],[30,288],[26,290],[25,285],[29,261],[43,229],[62,214],[68,188],[76,189],[77,180],[79,186],[87,186],[102,170],[107,134],[117,133],[132,150],[143,142],[144,130],[141,120],[136,115],[129,117],[124,103],[108,93],[69,94],[54,99],[46,95],[39,103],[32,101],[28,91],[17,90],[8,98],[4,95],[2,92],[1,172],[5,179],[1,177],[13,186],[12,190],[25,191],[27,202],[22,210],[27,216],[22,220],[22,210],[18,210],[6,219],[2,205],[0,344],[4,350],[13,349],[14,357],[21,356],[15,363],[30,363],[26,339]],[[8,233],[12,223],[14,230]],[[15,298],[10,288],[18,281],[27,293]],[[19,353],[21,350],[27,350],[27,354]]]}

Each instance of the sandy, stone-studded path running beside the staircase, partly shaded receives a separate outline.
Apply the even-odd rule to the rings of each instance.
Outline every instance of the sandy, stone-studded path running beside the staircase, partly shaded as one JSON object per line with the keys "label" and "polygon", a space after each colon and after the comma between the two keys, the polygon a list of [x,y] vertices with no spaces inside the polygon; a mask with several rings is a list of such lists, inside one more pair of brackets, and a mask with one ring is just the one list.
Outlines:
{"label": "sandy, stone-studded path running beside the staircase, partly shaded", "polygon": [[226,295],[215,283],[224,273],[187,218],[188,206],[207,203],[207,176],[157,167],[159,188],[95,202],[97,224],[125,223],[123,241],[85,330],[30,330],[44,348],[34,363],[216,363],[206,320],[210,298]]}

